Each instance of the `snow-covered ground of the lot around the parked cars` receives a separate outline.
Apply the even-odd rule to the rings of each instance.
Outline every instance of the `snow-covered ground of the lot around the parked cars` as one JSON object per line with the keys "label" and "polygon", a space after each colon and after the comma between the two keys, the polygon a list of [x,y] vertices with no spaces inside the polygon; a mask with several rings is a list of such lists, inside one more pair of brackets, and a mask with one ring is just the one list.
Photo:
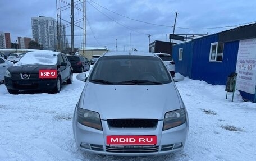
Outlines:
{"label": "snow-covered ground of the lot around the parked cars", "polygon": [[[88,72],[87,72],[88,73]],[[58,94],[8,94],[0,85],[0,160],[255,160],[256,104],[231,102],[225,86],[185,78],[176,82],[189,114],[181,153],[156,157],[111,157],[76,148],[72,114],[84,82],[63,85]]]}

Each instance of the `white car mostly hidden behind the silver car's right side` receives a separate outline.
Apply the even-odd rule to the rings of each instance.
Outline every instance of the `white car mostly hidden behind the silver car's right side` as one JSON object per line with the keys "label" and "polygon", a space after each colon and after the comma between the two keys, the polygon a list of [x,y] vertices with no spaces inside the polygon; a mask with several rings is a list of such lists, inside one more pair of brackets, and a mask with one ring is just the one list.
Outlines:
{"label": "white car mostly hidden behind the silver car's right side", "polygon": [[158,57],[162,59],[167,69],[170,71],[172,77],[175,77],[175,61],[173,61],[172,56],[166,53],[156,53]]}

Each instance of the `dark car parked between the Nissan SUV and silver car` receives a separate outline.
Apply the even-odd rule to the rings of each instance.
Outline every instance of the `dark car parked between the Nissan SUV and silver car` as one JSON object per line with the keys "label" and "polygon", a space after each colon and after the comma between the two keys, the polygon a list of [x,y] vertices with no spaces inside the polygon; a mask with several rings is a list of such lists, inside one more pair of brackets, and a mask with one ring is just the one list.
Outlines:
{"label": "dark car parked between the Nissan SUV and silver car", "polygon": [[67,56],[68,61],[70,61],[74,72],[85,72],[90,68],[90,63],[85,61],[83,56]]}

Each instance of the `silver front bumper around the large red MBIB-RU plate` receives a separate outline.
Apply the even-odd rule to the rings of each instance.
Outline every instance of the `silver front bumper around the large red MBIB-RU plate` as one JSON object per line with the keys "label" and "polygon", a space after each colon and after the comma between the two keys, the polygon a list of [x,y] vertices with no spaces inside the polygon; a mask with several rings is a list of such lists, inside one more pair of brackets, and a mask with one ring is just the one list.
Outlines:
{"label": "silver front bumper around the large red MBIB-RU plate", "polygon": [[[76,113],[76,110],[75,110]],[[95,154],[143,156],[168,154],[184,148],[188,135],[188,121],[184,124],[162,131],[163,121],[158,121],[154,128],[109,128],[107,121],[102,120],[103,130],[97,130],[77,122],[76,114],[73,118],[73,132],[79,149]],[[156,145],[107,145],[107,136],[157,136]]]}

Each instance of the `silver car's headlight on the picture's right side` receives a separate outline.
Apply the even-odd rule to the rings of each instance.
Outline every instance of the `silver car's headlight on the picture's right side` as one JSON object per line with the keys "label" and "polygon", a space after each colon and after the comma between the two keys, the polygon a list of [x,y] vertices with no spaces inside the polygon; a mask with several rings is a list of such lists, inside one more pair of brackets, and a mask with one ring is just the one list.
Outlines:
{"label": "silver car's headlight on the picture's right side", "polygon": [[176,126],[180,126],[185,122],[186,122],[185,108],[167,112],[164,116],[163,130],[168,130]]}

